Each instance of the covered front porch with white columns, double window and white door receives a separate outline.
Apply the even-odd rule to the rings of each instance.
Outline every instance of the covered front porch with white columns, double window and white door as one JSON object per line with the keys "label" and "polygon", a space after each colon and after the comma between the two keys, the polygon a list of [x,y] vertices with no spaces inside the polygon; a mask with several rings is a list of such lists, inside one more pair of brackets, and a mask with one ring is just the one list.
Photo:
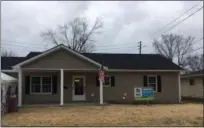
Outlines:
{"label": "covered front porch with white columns, double window and white door", "polygon": [[19,107],[64,106],[76,102],[103,104],[103,97],[100,98],[103,88],[97,81],[98,70],[21,69],[18,79]]}

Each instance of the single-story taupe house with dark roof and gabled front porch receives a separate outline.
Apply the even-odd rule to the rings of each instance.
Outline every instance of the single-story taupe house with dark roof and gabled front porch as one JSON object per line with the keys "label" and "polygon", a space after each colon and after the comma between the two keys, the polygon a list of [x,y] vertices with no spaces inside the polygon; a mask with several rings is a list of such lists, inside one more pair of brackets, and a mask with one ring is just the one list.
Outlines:
{"label": "single-story taupe house with dark roof and gabled front porch", "polygon": [[[98,70],[105,68],[101,93]],[[18,103],[134,102],[134,87],[152,87],[154,102],[180,102],[179,66],[157,54],[77,53],[64,45],[26,57],[2,57],[2,70],[18,78]],[[124,98],[125,96],[125,98]]]}

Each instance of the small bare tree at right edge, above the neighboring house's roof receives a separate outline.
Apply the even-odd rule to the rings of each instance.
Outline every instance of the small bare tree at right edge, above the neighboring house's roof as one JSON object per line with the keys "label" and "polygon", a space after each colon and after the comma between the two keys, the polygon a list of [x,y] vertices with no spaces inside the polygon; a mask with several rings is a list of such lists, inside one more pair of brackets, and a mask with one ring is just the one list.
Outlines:
{"label": "small bare tree at right edge, above the neighboring house's roof", "polygon": [[185,58],[187,66],[192,71],[202,70],[203,69],[203,54],[202,55],[189,55]]}

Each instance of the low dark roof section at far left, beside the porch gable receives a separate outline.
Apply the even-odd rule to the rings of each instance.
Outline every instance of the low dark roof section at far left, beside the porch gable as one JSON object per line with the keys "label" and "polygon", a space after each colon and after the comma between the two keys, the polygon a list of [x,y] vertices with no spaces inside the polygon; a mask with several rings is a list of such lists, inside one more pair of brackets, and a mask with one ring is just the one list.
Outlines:
{"label": "low dark roof section at far left, beside the porch gable", "polygon": [[14,66],[24,60],[25,57],[1,57],[1,69],[12,69],[11,66]]}

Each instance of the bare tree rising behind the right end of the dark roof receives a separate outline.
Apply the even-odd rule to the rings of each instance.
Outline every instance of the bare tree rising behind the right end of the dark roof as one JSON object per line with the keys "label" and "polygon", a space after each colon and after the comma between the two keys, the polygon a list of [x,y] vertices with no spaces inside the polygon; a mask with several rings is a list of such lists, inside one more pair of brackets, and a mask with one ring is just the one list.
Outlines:
{"label": "bare tree rising behind the right end of the dark roof", "polygon": [[177,57],[178,65],[185,67],[184,56],[191,52],[193,41],[194,38],[191,36],[184,38],[182,35],[167,34],[162,35],[160,41],[154,40],[153,46],[159,54],[169,58],[171,61],[173,61],[174,57]]}

